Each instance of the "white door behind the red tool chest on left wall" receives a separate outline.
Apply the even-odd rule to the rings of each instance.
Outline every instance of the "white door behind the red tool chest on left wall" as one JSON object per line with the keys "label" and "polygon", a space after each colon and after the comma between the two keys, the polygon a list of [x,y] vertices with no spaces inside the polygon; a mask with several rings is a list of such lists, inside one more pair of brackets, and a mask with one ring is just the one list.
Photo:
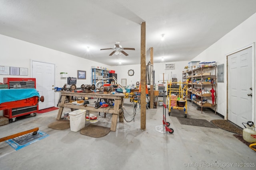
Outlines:
{"label": "white door behind the red tool chest on left wall", "polygon": [[54,107],[54,64],[32,61],[32,76],[36,78],[36,90],[44,96],[44,102],[39,102],[38,109]]}

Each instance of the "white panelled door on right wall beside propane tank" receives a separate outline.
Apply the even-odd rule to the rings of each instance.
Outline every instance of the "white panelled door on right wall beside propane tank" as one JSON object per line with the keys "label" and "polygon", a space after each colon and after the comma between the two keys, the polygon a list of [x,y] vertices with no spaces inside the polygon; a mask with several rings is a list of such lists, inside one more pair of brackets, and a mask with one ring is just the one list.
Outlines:
{"label": "white panelled door on right wall beside propane tank", "polygon": [[[252,120],[252,47],[228,56],[228,120]],[[249,94],[249,96],[248,96]]]}

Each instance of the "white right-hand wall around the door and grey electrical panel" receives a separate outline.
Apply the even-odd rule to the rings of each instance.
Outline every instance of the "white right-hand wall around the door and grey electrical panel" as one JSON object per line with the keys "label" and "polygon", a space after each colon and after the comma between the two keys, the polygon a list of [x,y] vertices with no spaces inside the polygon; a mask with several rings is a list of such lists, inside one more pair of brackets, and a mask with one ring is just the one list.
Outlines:
{"label": "white right-hand wall around the door and grey electrical panel", "polygon": [[[224,64],[224,83],[218,83],[217,98],[217,111],[224,116],[226,116],[227,109],[226,55],[250,45],[253,42],[256,42],[256,14],[252,15],[193,59],[193,61],[214,60],[217,64]],[[256,115],[254,115],[254,117],[256,117]]]}

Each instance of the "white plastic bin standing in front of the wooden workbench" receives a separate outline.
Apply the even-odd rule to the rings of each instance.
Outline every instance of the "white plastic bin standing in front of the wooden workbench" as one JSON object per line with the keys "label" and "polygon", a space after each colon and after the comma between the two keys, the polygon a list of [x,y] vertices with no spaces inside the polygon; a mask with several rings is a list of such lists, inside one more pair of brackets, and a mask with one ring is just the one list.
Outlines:
{"label": "white plastic bin standing in front of the wooden workbench", "polygon": [[85,126],[86,110],[78,109],[69,113],[70,130],[73,132],[80,131]]}

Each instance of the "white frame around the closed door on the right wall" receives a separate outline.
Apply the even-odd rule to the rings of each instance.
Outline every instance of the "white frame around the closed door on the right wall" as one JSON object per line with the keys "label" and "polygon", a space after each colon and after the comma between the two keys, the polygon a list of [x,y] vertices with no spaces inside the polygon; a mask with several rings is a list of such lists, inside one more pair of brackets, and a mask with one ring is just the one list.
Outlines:
{"label": "white frame around the closed door on the right wall", "polygon": [[242,47],[241,49],[238,49],[236,51],[233,51],[231,53],[226,54],[226,73],[227,73],[227,76],[226,76],[226,81],[227,81],[227,83],[226,83],[226,90],[227,90],[226,91],[227,92],[227,94],[226,94],[226,101],[227,101],[226,102],[226,109],[227,109],[227,111],[226,111],[225,120],[228,120],[228,56],[232,55],[234,53],[237,53],[239,51],[243,51],[244,49],[248,49],[250,47],[252,47],[252,121],[254,123],[256,123],[256,119],[255,119],[256,118],[256,113],[255,113],[255,111],[256,111],[256,104],[255,104],[255,102],[256,102],[256,93],[255,93],[256,92],[256,90],[255,90],[255,88],[256,88],[255,42],[253,42],[252,44],[247,45],[245,47]]}

